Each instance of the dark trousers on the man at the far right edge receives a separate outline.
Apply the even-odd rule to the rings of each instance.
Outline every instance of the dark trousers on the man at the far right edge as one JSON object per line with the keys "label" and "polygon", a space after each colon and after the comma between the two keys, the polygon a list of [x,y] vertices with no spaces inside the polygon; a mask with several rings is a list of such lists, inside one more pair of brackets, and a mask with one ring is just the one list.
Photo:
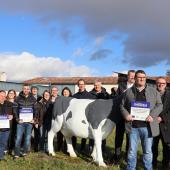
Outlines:
{"label": "dark trousers on the man at the far right edge", "polygon": [[158,158],[158,145],[159,141],[161,140],[163,146],[163,160],[162,165],[167,165],[170,163],[170,146],[166,144],[163,140],[162,135],[156,136],[153,138],[153,145],[152,145],[152,152],[153,152],[153,164],[157,164]]}

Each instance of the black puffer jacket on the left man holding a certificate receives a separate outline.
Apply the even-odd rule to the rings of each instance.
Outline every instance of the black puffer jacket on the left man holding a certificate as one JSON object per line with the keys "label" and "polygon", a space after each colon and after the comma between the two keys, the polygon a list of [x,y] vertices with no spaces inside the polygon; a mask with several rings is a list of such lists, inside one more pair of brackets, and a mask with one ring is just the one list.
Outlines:
{"label": "black puffer jacket on the left man holding a certificate", "polygon": [[22,108],[32,108],[33,118],[36,119],[37,117],[36,99],[31,93],[28,95],[28,97],[25,97],[23,92],[20,92],[15,102],[17,103],[17,109],[15,112],[16,120],[19,119],[19,109],[22,109]]}

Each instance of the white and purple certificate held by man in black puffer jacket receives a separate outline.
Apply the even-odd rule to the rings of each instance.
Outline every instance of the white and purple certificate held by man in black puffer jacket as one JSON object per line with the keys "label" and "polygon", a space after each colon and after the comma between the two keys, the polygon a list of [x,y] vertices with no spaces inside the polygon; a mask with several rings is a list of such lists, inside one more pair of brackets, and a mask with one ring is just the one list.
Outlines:
{"label": "white and purple certificate held by man in black puffer jacket", "polygon": [[31,122],[33,120],[33,109],[32,108],[20,109],[19,119],[22,119],[23,122]]}

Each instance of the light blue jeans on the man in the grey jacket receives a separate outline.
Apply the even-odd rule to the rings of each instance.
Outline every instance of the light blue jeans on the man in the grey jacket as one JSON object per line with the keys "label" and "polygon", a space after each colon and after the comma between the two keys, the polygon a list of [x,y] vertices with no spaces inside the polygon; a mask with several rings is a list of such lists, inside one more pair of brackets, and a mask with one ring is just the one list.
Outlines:
{"label": "light blue jeans on the man in the grey jacket", "polygon": [[129,133],[129,149],[127,170],[135,170],[137,163],[138,144],[141,140],[143,150],[144,170],[152,170],[152,142],[153,138],[147,127],[132,128]]}

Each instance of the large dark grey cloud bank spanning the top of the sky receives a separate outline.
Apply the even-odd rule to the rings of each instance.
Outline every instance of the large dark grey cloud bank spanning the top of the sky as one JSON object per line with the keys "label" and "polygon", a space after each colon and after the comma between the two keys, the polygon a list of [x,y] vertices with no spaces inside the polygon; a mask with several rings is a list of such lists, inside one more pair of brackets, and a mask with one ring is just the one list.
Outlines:
{"label": "large dark grey cloud bank spanning the top of the sky", "polygon": [[[125,35],[123,62],[131,66],[170,64],[169,0],[0,0],[0,4],[0,10],[9,14],[31,15],[47,26],[60,23],[62,30],[80,24],[95,37]],[[71,36],[67,31],[61,32],[66,42]]]}

